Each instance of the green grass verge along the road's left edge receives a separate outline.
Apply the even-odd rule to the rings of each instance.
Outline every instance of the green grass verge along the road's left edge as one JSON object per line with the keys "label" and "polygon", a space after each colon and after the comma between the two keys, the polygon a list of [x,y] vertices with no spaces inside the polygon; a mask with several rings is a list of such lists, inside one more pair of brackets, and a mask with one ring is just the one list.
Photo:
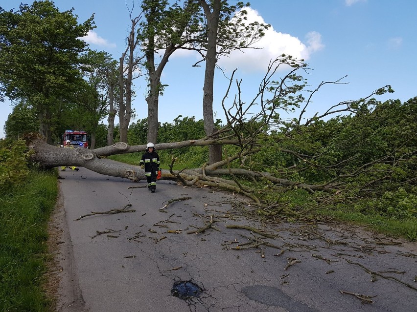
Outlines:
{"label": "green grass verge along the road's left edge", "polygon": [[0,311],[52,311],[42,288],[47,220],[58,194],[56,174],[33,172],[0,197]]}

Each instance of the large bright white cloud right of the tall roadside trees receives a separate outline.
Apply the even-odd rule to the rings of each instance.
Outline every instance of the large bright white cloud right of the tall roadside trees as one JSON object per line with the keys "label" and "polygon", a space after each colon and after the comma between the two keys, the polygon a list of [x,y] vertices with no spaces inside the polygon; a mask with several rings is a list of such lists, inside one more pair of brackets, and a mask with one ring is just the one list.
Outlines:
{"label": "large bright white cloud right of the tall roadside trees", "polygon": [[[257,11],[245,8],[248,11],[248,22],[258,21],[265,23]],[[308,60],[310,54],[324,48],[321,35],[312,31],[306,35],[306,44],[290,34],[277,32],[271,26],[265,31],[265,36],[254,44],[259,49],[243,49],[233,51],[229,57],[221,57],[218,65],[226,71],[239,68],[244,72],[265,71],[271,60],[281,54],[291,55],[297,59]]]}

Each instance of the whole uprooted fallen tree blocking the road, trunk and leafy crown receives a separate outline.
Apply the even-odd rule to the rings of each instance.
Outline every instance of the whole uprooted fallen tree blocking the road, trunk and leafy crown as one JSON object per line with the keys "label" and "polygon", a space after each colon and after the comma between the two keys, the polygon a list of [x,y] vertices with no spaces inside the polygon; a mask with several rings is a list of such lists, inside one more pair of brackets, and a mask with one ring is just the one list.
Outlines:
{"label": "whole uprooted fallen tree blocking the road, trunk and leafy crown", "polygon": [[[274,80],[278,67],[283,65],[290,68],[290,71],[280,80]],[[392,147],[384,146],[383,153],[370,156],[369,146],[362,142],[370,139],[361,141],[356,138],[363,135],[363,127],[370,127],[366,118],[371,116],[372,122],[379,118],[372,116],[373,112],[369,108],[372,105],[377,106],[373,96],[392,92],[391,87],[387,85],[357,101],[341,102],[324,113],[317,112],[312,118],[304,118],[303,114],[307,111],[312,96],[324,84],[342,83],[342,79],[322,82],[315,90],[309,91],[308,96],[303,96],[300,92],[306,83],[296,72],[306,70],[305,66],[306,64],[291,57],[281,56],[271,62],[259,85],[259,92],[249,104],[242,101],[241,81],[236,81],[237,95],[230,107],[226,108],[232,89],[233,72],[222,101],[226,125],[218,130],[217,139],[202,138],[156,145],[157,150],[221,145],[223,159],[217,163],[203,164],[199,168],[173,170],[176,158],[172,156],[170,169],[162,170],[162,179],[174,180],[186,186],[217,187],[245,194],[253,199],[254,205],[260,208],[262,214],[269,216],[278,213],[297,214],[297,207],[289,209],[279,200],[271,202],[265,199],[264,195],[271,190],[304,189],[315,199],[314,203],[304,205],[304,211],[309,211],[332,203],[374,196],[379,191],[378,187],[384,183],[386,185],[386,181],[390,179],[398,180],[401,174],[400,183],[415,184],[416,178],[415,175],[410,175],[411,171],[406,174],[399,171],[399,168],[403,171],[409,170],[407,166],[416,162],[415,142],[396,142]],[[414,102],[413,105],[415,106]],[[295,108],[301,108],[300,115],[290,121],[283,120],[278,114]],[[341,113],[353,117],[323,122],[325,117]],[[346,127],[353,128],[354,131],[346,131]],[[380,125],[375,124],[374,127],[378,128]],[[412,127],[409,130],[414,131],[413,129]],[[333,136],[339,137],[336,140]],[[27,142],[34,150],[32,161],[45,167],[83,166],[101,174],[131,181],[145,179],[144,171],[139,166],[104,160],[115,154],[143,152],[146,149],[144,145],[129,146],[119,142],[112,146],[86,150],[49,146],[36,136],[28,137]],[[358,150],[352,153],[349,150],[351,148]],[[267,156],[262,158],[263,155]],[[255,186],[243,183],[242,179],[254,182]],[[384,189],[381,188],[380,191],[383,192]]]}

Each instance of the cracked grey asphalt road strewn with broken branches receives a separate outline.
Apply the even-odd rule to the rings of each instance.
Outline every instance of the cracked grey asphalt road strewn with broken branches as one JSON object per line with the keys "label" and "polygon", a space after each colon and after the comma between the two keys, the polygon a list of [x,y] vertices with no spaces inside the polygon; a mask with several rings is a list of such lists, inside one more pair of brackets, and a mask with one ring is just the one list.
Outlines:
{"label": "cracked grey asphalt road strewn with broken branches", "polygon": [[[151,193],[145,181],[82,167],[60,175],[58,311],[417,311],[416,243],[335,224],[254,221],[242,212],[252,209],[245,198],[207,187],[161,181]],[[135,211],[83,217],[111,209]],[[174,285],[189,291],[185,282],[195,292],[175,296]]]}

